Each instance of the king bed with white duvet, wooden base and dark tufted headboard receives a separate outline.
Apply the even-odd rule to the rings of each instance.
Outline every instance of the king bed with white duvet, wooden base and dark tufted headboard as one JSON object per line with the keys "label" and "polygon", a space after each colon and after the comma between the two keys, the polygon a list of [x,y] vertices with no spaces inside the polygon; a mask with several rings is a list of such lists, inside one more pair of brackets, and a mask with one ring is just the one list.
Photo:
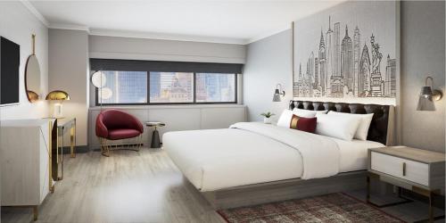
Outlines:
{"label": "king bed with white duvet, wooden base and dark tufted headboard", "polygon": [[392,106],[291,101],[289,108],[374,117],[366,141],[241,122],[223,129],[169,132],[163,147],[216,209],[364,187],[368,148],[391,144]]}

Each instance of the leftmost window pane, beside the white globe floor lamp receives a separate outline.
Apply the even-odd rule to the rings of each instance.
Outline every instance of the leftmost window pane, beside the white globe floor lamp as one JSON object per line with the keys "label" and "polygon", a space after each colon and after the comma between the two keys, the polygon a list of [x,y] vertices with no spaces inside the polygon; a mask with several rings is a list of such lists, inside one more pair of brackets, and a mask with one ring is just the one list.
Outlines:
{"label": "leftmost window pane, beside the white globe floor lamp", "polygon": [[147,103],[147,72],[103,70],[105,85],[97,92],[99,102],[108,104]]}

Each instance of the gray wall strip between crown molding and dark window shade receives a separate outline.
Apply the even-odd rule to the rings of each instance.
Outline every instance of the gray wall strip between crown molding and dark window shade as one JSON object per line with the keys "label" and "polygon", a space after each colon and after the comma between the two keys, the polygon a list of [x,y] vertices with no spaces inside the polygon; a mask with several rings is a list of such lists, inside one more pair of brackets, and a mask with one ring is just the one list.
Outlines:
{"label": "gray wall strip between crown molding and dark window shade", "polygon": [[245,45],[131,37],[89,37],[92,58],[244,63]]}

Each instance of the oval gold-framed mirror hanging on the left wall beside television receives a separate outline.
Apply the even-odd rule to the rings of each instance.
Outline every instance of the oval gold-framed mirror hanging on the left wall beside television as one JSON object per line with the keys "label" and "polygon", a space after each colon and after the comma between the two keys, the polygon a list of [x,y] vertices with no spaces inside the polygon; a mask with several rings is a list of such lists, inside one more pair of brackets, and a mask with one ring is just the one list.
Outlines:
{"label": "oval gold-framed mirror hanging on the left wall beside television", "polygon": [[33,53],[29,55],[25,67],[25,88],[30,103],[36,102],[41,94],[40,91],[40,66],[35,54],[35,36],[33,35]]}

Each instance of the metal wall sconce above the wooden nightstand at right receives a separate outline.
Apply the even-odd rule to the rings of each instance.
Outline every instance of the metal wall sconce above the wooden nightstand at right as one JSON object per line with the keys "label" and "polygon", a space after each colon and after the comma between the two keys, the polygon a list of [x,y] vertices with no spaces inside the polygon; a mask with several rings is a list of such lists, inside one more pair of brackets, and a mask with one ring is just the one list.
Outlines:
{"label": "metal wall sconce above the wooden nightstand at right", "polygon": [[[427,85],[427,80],[431,79],[431,86]],[[418,98],[417,111],[435,111],[434,101],[442,99],[442,91],[433,89],[434,78],[425,78],[425,86],[421,87],[421,93]]]}

